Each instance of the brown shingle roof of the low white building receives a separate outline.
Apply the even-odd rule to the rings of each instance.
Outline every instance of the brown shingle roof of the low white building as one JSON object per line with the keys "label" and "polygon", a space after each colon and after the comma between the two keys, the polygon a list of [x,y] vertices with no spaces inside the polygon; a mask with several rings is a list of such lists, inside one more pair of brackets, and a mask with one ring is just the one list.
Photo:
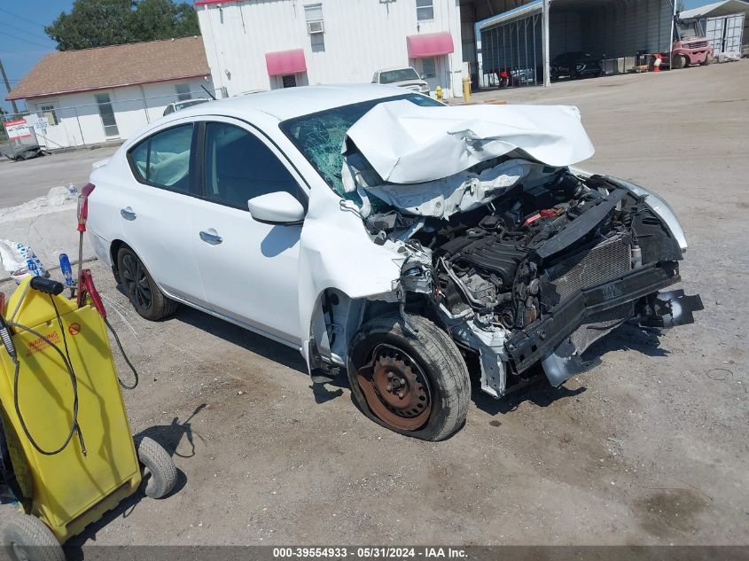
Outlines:
{"label": "brown shingle roof of the low white building", "polygon": [[103,90],[208,74],[200,36],[58,51],[36,63],[5,99]]}

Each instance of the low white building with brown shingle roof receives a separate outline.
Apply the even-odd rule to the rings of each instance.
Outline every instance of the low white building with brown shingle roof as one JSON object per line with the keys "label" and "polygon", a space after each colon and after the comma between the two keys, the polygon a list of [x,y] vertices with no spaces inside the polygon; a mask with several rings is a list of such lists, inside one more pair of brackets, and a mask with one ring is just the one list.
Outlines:
{"label": "low white building with brown shingle roof", "polygon": [[6,99],[43,116],[36,142],[56,149],[124,140],[167,105],[207,97],[202,86],[213,91],[203,41],[186,37],[53,52]]}

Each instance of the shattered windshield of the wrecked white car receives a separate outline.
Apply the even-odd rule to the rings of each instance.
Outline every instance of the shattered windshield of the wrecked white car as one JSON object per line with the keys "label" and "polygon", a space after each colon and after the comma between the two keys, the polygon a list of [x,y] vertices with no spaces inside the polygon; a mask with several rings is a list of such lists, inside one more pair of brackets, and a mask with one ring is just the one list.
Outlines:
{"label": "shattered windshield of the wrecked white car", "polygon": [[440,102],[431,97],[420,94],[404,94],[402,96],[371,99],[362,103],[335,107],[320,113],[302,115],[283,121],[280,127],[293,144],[299,148],[302,155],[312,164],[312,167],[317,170],[317,173],[323,176],[325,183],[328,183],[332,190],[341,197],[346,197],[350,193],[344,193],[343,191],[343,180],[341,179],[343,156],[340,151],[348,129],[375,105],[395,101],[396,99],[405,99],[414,105],[442,106]]}

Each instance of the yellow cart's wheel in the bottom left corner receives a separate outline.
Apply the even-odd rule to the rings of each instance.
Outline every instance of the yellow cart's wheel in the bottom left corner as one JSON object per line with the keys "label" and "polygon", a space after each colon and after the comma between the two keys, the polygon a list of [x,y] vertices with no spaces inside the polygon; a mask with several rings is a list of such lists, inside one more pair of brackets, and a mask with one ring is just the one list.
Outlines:
{"label": "yellow cart's wheel in the bottom left corner", "polygon": [[42,520],[28,514],[3,515],[0,545],[12,561],[65,561],[55,534]]}

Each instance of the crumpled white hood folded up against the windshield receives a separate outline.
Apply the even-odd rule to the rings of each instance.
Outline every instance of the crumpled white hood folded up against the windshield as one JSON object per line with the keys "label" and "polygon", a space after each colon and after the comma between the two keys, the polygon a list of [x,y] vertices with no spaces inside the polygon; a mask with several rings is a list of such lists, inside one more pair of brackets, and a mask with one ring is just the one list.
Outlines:
{"label": "crumpled white hood folded up against the windshield", "polygon": [[422,107],[392,101],[365,113],[347,138],[388,183],[434,181],[515,150],[554,167],[594,152],[580,112],[565,105]]}

